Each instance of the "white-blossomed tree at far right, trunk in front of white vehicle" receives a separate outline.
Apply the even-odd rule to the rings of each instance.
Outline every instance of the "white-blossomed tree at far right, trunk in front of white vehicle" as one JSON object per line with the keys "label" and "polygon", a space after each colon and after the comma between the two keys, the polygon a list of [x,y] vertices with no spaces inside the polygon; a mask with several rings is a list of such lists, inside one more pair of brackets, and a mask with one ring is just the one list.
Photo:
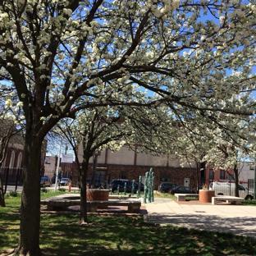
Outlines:
{"label": "white-blossomed tree at far right, trunk in front of white vehicle", "polygon": [[232,169],[235,180],[235,196],[239,197],[239,162],[255,156],[255,118],[227,118],[222,124],[229,126],[229,132],[216,129],[208,144],[204,160],[217,168]]}

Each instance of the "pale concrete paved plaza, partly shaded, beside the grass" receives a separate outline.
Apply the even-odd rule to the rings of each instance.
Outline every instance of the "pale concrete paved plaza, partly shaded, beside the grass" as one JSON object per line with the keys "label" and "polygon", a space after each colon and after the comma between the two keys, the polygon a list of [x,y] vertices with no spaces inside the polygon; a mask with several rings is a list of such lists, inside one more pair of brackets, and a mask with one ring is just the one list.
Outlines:
{"label": "pale concrete paved plaza, partly shaded, beside the grass", "polygon": [[176,203],[155,199],[147,203],[148,222],[256,237],[256,206]]}

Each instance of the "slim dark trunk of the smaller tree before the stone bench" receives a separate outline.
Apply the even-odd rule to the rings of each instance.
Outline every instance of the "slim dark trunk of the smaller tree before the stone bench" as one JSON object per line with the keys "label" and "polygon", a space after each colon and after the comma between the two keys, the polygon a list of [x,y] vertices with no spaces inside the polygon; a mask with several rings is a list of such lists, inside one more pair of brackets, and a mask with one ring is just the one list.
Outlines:
{"label": "slim dark trunk of the smaller tree before the stone bench", "polygon": [[87,217],[87,198],[86,198],[86,180],[89,167],[89,158],[83,158],[82,170],[80,172],[80,223],[88,223]]}

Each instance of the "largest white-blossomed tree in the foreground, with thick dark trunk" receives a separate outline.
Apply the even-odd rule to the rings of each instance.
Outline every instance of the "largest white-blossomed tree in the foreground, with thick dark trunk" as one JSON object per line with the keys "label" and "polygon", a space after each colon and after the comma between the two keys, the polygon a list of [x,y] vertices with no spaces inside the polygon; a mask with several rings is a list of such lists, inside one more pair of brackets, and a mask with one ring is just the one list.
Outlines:
{"label": "largest white-blossomed tree in the foreground, with thick dark trunk", "polygon": [[252,113],[223,99],[253,88],[254,14],[236,0],[0,2],[1,88],[16,89],[25,116],[21,254],[39,255],[40,146],[63,117],[163,101]]}

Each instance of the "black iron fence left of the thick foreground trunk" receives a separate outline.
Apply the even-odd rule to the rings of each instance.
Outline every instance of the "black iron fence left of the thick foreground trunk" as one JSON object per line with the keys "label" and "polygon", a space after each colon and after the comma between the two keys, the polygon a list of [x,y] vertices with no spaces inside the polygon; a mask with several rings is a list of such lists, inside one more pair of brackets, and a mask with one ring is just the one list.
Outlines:
{"label": "black iron fence left of the thick foreground trunk", "polygon": [[14,185],[14,190],[17,190],[18,185],[22,185],[22,168],[0,168],[0,176],[4,193],[7,192],[7,185]]}

